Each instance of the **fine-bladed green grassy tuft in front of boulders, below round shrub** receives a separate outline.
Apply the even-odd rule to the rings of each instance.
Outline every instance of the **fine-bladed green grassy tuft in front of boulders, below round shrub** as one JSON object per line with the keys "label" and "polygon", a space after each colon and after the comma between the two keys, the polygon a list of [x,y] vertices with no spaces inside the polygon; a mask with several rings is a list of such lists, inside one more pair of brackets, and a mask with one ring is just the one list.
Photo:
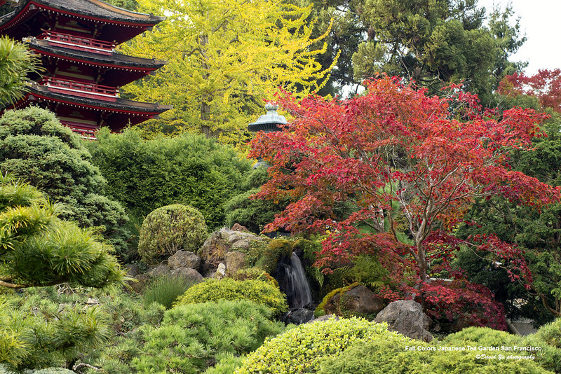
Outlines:
{"label": "fine-bladed green grassy tuft in front of boulders, below round shrub", "polygon": [[194,282],[180,275],[163,275],[154,279],[144,290],[144,304],[158,303],[170,309],[177,297],[193,285]]}

